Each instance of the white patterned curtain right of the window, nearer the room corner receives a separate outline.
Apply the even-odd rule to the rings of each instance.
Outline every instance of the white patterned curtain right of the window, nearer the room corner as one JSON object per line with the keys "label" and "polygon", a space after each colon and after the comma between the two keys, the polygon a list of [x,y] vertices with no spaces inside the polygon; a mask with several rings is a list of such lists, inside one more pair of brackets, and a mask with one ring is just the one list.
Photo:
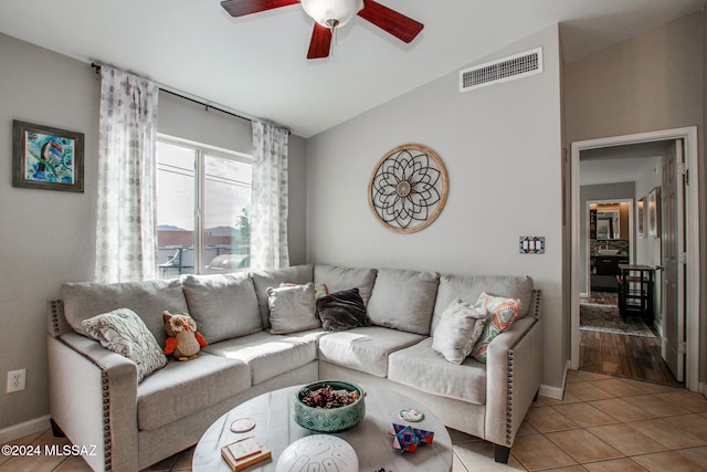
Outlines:
{"label": "white patterned curtain right of the window, nearer the room corner", "polygon": [[289,265],[287,145],[289,130],[253,122],[251,269]]}

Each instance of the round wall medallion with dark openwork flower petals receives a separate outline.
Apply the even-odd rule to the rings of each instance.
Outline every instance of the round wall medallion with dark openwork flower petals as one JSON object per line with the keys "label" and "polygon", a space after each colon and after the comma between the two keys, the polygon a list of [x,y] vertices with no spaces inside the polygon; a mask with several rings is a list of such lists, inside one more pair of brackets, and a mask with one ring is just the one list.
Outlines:
{"label": "round wall medallion with dark openwork flower petals", "polygon": [[440,216],[447,195],[447,175],[429,147],[405,144],[378,161],[368,185],[369,206],[389,230],[413,233]]}

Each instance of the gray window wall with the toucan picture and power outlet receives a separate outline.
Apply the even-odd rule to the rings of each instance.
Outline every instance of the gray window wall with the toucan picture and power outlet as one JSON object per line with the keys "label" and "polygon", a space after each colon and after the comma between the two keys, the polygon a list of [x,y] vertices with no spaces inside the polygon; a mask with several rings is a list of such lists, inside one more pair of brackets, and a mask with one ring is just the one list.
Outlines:
{"label": "gray window wall with the toucan picture and power outlet", "polygon": [[[2,430],[49,413],[46,379],[48,302],[63,282],[94,275],[96,155],[99,81],[86,63],[0,34],[0,436]],[[85,135],[85,192],[12,187],[12,120]],[[204,112],[160,94],[159,130],[251,151],[249,122]],[[293,263],[306,262],[305,140],[291,136],[289,248]],[[8,370],[27,369],[27,389],[6,394]],[[1,441],[0,441],[1,442]]]}

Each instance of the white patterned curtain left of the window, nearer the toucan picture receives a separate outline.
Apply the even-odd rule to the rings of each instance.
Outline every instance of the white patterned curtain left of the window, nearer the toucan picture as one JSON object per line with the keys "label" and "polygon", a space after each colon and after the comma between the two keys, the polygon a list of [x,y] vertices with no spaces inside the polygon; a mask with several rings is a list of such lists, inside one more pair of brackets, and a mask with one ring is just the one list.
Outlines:
{"label": "white patterned curtain left of the window, nearer the toucan picture", "polygon": [[155,228],[156,84],[101,67],[97,282],[157,275]]}

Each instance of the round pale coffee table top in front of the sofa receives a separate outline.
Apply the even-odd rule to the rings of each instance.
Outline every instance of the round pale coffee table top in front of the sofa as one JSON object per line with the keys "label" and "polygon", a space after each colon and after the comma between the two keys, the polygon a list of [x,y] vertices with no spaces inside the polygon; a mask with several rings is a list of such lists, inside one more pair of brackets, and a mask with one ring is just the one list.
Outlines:
{"label": "round pale coffee table top in front of the sofa", "polygon": [[[366,418],[348,431],[335,436],[346,440],[358,454],[361,472],[424,471],[445,472],[452,470],[452,440],[444,424],[422,405],[410,397],[376,387],[366,390]],[[274,472],[282,452],[296,440],[316,432],[309,431],[294,420],[295,395],[299,387],[283,388],[263,394],[229,411],[204,432],[197,444],[192,461],[193,472],[228,472],[229,465],[221,458],[221,448],[241,438],[256,436],[273,453],[272,460],[246,469],[247,472]],[[416,408],[425,413],[420,422],[407,422],[400,418],[403,408]],[[231,423],[239,418],[253,418],[255,428],[235,433]],[[393,437],[388,433],[391,424],[410,424],[413,428],[434,431],[432,444],[418,448],[414,453],[400,452],[392,447]]]}

